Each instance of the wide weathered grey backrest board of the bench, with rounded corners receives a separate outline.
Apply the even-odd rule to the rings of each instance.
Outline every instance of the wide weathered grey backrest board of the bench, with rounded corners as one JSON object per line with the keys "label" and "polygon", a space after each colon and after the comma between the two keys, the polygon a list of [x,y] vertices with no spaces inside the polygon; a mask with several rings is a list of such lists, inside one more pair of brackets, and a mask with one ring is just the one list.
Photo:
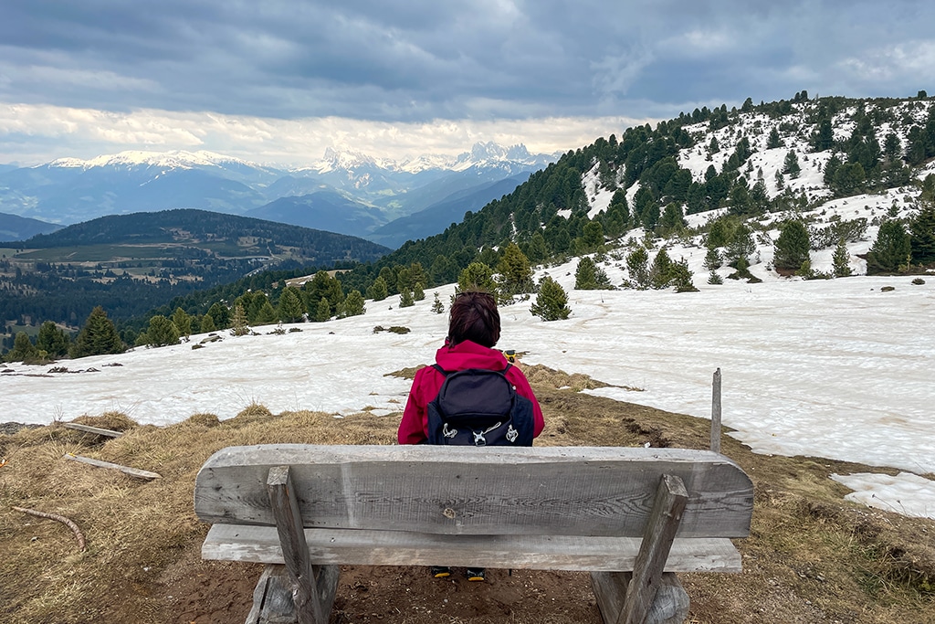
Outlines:
{"label": "wide weathered grey backrest board of the bench, with rounded corners", "polygon": [[263,444],[198,472],[206,522],[274,525],[269,469],[289,466],[307,528],[640,537],[662,474],[688,492],[678,536],[745,537],[753,485],[727,457],[688,449]]}

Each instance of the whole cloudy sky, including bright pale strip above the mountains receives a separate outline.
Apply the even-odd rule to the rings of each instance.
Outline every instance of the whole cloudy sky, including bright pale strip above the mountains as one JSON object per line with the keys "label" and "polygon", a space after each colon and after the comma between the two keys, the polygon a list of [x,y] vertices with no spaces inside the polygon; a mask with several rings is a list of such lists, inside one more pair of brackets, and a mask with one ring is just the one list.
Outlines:
{"label": "whole cloudy sky, including bright pale strip above the mountains", "polygon": [[0,0],[0,163],[581,147],[701,106],[935,92],[930,0]]}

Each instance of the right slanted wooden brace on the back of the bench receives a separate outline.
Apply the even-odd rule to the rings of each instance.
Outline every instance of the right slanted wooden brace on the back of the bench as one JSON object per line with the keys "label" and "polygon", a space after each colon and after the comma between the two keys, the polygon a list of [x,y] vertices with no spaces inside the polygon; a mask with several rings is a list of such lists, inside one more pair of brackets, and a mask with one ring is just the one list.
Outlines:
{"label": "right slanted wooden brace on the back of the bench", "polygon": [[682,479],[672,474],[663,474],[655,493],[653,512],[643,532],[640,553],[633,564],[633,580],[626,588],[626,601],[617,624],[643,624],[646,621],[687,502],[688,492]]}

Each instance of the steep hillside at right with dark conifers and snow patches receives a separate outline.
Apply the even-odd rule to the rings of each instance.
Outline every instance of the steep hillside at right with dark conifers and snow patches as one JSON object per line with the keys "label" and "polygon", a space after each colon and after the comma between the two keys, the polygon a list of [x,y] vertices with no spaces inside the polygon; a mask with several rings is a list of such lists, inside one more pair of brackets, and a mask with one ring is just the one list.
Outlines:
{"label": "steep hillside at right with dark conifers and snow patches", "polygon": [[[422,263],[425,285],[450,283],[472,261],[496,267],[509,240],[539,263],[597,251],[639,228],[656,239],[677,237],[686,230],[684,216],[694,213],[722,209],[743,221],[912,186],[935,157],[931,104],[924,93],[906,100],[813,100],[803,92],[628,128],[620,138],[598,138],[566,153],[463,223],[410,241],[341,282],[366,292],[382,269],[398,273]],[[387,283],[394,292],[394,282]]]}

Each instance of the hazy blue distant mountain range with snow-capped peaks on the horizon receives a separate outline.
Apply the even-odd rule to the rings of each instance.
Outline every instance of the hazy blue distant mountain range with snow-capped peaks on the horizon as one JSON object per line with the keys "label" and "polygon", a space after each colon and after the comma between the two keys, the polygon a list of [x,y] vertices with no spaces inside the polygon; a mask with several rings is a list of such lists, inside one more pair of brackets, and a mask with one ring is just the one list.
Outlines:
{"label": "hazy blue distant mountain range with snow-capped peaks on the horizon", "polygon": [[[366,238],[397,218],[436,204],[444,204],[440,210],[450,214],[456,196],[483,196],[485,189],[500,193],[503,186],[493,187],[493,182],[527,175],[554,158],[530,154],[523,145],[478,143],[453,158],[419,156],[400,162],[328,150],[310,167],[287,170],[213,152],[121,152],[90,160],[62,158],[36,167],[0,167],[0,212],[71,225],[109,214],[188,208]],[[483,197],[489,201],[498,196]],[[429,221],[439,223],[437,218]],[[421,235],[436,233],[424,230]],[[19,230],[3,234],[19,235]]]}

